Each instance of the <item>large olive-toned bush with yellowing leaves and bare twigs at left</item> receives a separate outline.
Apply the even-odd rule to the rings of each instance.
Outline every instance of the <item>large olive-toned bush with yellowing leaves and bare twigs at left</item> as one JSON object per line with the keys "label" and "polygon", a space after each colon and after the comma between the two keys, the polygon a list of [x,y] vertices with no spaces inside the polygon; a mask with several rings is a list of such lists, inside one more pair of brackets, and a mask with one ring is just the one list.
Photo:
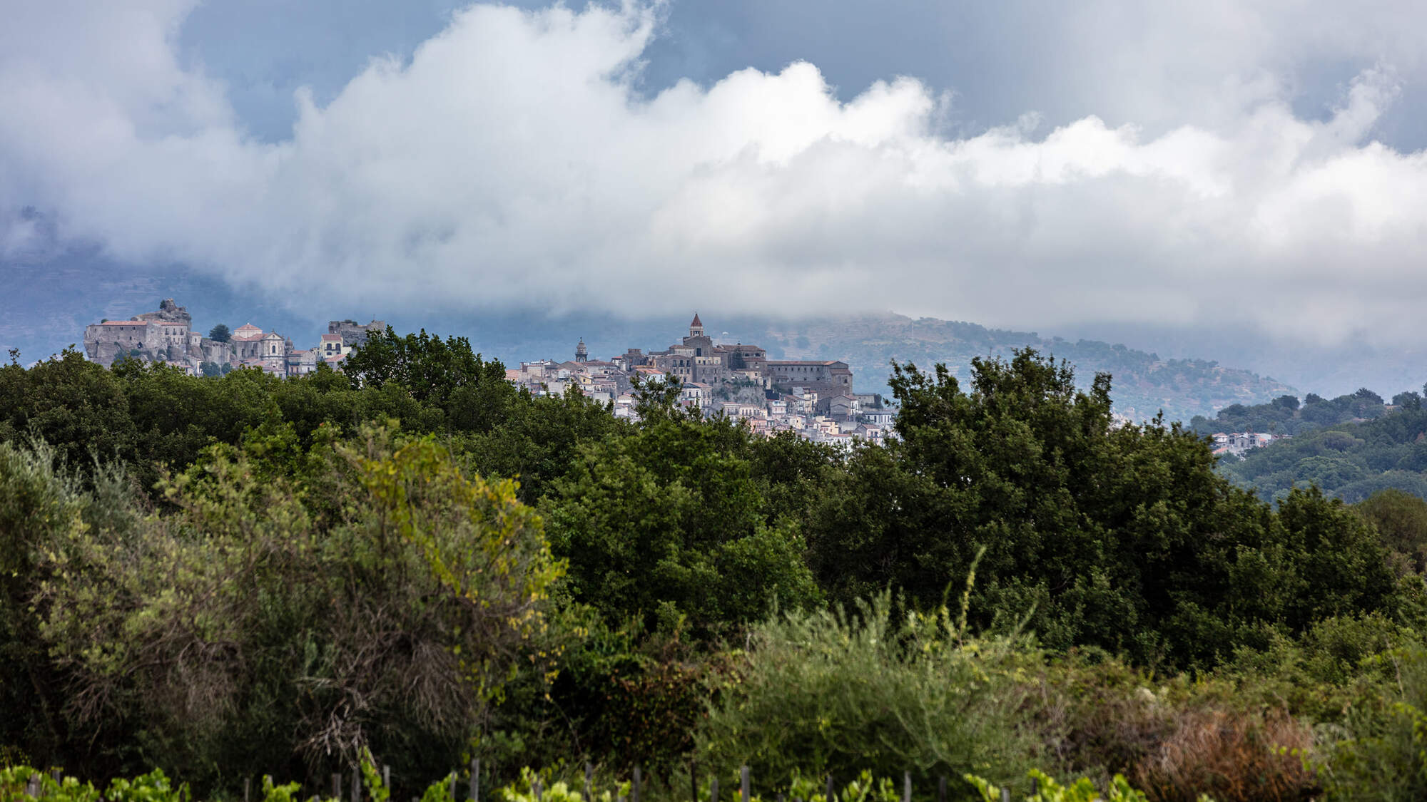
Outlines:
{"label": "large olive-toned bush with yellowing leaves and bare twigs at left", "polygon": [[30,601],[74,715],[143,722],[133,738],[203,782],[365,745],[418,776],[459,762],[515,661],[548,662],[524,649],[562,571],[541,521],[430,438],[372,428],[295,461],[264,444],[167,481],[173,515],[76,512],[43,541],[64,581]]}

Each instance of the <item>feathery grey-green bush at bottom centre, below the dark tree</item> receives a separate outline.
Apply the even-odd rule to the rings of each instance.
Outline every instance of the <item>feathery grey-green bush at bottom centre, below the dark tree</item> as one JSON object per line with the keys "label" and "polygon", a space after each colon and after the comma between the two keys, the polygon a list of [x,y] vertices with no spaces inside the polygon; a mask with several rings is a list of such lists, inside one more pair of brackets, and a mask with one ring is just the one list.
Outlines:
{"label": "feathery grey-green bush at bottom centre, below the dark tree", "polygon": [[850,614],[758,625],[701,731],[701,759],[715,771],[746,763],[775,786],[802,771],[912,771],[918,782],[1019,775],[1040,752],[1017,679],[1036,658],[1012,641],[963,635],[946,608],[905,612],[889,594]]}

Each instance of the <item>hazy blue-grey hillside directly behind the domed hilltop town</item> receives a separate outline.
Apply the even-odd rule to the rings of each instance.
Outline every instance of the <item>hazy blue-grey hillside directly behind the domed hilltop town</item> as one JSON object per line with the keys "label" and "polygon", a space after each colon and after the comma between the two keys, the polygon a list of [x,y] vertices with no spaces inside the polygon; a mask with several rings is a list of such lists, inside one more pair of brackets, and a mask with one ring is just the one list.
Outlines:
{"label": "hazy blue-grey hillside directly behind the domed hilltop town", "polygon": [[1293,392],[1273,378],[1207,360],[1162,360],[1157,354],[1096,340],[1072,342],[1033,331],[898,314],[786,323],[746,320],[739,335],[745,342],[763,345],[773,358],[846,360],[863,392],[886,391],[892,360],[928,368],[946,362],[953,375],[965,380],[972,357],[1007,357],[1026,345],[1069,360],[1083,385],[1096,372],[1112,374],[1116,411],[1136,420],[1163,410],[1169,420],[1189,421],[1230,404],[1259,404]]}

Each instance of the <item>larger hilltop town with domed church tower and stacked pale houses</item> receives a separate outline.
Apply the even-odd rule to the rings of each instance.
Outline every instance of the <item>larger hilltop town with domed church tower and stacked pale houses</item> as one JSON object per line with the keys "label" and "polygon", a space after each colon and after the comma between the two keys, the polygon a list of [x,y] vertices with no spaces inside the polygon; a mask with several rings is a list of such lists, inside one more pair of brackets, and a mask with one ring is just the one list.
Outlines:
{"label": "larger hilltop town with domed church tower and stacked pale houses", "polygon": [[689,334],[662,351],[629,348],[609,360],[591,360],[585,341],[574,360],[541,360],[508,368],[505,378],[532,394],[561,394],[574,387],[614,405],[616,417],[635,415],[634,380],[679,381],[679,401],[704,415],[723,414],[759,434],[791,431],[808,440],[849,444],[882,442],[895,412],[878,394],[853,392],[852,370],[839,360],[769,360],[745,342],[718,344],[705,334],[698,313]]}

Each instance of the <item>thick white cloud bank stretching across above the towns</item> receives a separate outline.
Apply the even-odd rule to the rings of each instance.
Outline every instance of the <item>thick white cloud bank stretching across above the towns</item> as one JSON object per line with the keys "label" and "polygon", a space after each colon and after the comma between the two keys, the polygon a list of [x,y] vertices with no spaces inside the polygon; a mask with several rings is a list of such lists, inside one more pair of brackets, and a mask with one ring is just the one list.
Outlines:
{"label": "thick white cloud bank stretching across above the towns", "polygon": [[1324,340],[1416,331],[1427,303],[1427,154],[1370,141],[1387,68],[1326,121],[1256,98],[1156,137],[1027,117],[952,138],[910,78],[839,103],[795,63],[641,98],[648,9],[474,6],[328,106],[300,96],[291,138],[264,144],[176,54],[190,9],[10,16],[0,247],[36,207],[120,260],[323,308],[895,308]]}

